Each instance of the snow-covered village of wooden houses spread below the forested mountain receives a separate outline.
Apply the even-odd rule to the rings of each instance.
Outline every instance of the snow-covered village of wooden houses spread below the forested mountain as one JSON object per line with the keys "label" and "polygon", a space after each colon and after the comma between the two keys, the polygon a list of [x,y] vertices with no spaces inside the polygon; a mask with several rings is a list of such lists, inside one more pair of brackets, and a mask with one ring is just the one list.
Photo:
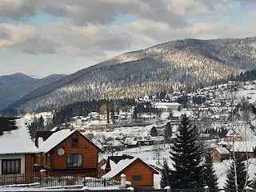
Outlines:
{"label": "snow-covered village of wooden houses spread below the forested mountain", "polygon": [[[230,86],[236,90],[235,98]],[[174,92],[166,95],[168,99],[145,96],[137,102],[152,102],[157,114],[138,114],[134,118],[132,108],[115,113],[107,123],[106,114],[92,111],[87,117],[76,116],[53,130],[38,131],[35,138],[31,138],[28,125],[41,116],[45,123],[51,121],[51,112],[0,118],[1,187],[30,183],[26,186],[121,189],[125,175],[126,187],[158,188],[162,162],[172,163],[170,145],[185,114],[197,127],[197,140],[210,151],[217,170],[218,163],[228,161],[233,151],[245,160],[254,158],[254,114],[250,119],[234,115],[232,121],[230,116],[239,103],[254,104],[255,93],[254,82],[230,82],[186,95]],[[188,102],[177,102],[182,97]],[[193,98],[203,98],[204,102],[195,103]],[[166,131],[167,127],[171,131]],[[222,187],[223,181],[220,183]]]}

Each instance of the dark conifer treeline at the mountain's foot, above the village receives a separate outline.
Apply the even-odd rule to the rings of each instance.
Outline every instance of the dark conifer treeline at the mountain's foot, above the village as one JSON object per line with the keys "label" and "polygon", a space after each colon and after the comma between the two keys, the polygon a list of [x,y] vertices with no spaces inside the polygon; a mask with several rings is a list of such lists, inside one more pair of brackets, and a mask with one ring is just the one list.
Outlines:
{"label": "dark conifer treeline at the mountain's foot, above the village", "polygon": [[87,116],[90,112],[118,112],[119,110],[127,110],[135,105],[135,100],[131,98],[116,100],[90,100],[84,102],[75,102],[67,106],[63,106],[60,110],[54,111],[53,126],[58,126],[64,122],[70,122],[70,118],[74,116]]}

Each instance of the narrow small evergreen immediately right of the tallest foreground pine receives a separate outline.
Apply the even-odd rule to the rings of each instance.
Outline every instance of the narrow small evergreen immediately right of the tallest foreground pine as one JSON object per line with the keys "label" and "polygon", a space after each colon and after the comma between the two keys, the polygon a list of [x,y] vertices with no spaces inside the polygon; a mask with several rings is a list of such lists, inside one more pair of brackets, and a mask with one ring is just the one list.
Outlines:
{"label": "narrow small evergreen immediately right of the tallest foreground pine", "polygon": [[210,189],[218,189],[218,179],[215,174],[213,159],[210,154],[205,156],[206,162],[203,170],[204,186],[209,186]]}

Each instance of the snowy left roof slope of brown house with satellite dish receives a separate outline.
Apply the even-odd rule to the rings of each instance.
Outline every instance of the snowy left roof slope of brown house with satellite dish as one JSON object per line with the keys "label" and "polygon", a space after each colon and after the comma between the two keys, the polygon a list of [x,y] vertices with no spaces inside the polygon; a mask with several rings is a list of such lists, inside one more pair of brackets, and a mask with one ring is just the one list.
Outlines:
{"label": "snowy left roof slope of brown house with satellite dish", "polygon": [[76,130],[59,130],[54,134],[50,135],[49,138],[46,139],[45,142],[42,142],[41,146],[38,146],[38,149],[44,153],[47,153],[54,146],[57,146],[60,142],[62,142],[65,138],[69,137]]}

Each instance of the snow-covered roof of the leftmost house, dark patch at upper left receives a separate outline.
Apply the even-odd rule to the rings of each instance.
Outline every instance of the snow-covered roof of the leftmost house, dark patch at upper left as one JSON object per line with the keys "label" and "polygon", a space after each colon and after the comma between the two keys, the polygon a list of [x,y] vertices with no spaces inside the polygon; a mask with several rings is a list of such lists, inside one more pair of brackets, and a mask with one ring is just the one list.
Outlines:
{"label": "snow-covered roof of the leftmost house, dark patch at upper left", "polygon": [[0,135],[0,154],[38,153],[38,148],[34,145],[25,124],[25,118],[17,118],[14,121],[17,129],[3,131],[2,135]]}

